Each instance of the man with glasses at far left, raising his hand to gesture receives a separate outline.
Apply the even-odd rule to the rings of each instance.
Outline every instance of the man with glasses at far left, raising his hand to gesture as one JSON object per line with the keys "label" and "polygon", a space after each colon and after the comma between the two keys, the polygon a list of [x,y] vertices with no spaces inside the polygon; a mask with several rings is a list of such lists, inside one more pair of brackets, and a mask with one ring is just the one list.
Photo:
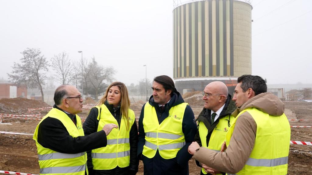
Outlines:
{"label": "man with glasses at far left, raising his hand to gesture", "polygon": [[36,127],[36,141],[40,174],[88,173],[85,151],[104,147],[106,136],[115,124],[106,124],[101,131],[84,136],[80,117],[81,94],[76,87],[61,85],[54,93],[55,105]]}

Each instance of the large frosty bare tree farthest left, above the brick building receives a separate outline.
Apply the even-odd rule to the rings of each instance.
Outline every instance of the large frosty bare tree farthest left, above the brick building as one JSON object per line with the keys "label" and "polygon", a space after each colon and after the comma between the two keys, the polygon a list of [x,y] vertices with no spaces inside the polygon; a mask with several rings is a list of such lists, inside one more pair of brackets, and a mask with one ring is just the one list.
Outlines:
{"label": "large frosty bare tree farthest left, above the brick building", "polygon": [[30,88],[38,88],[44,102],[42,85],[45,85],[44,80],[49,64],[44,55],[41,55],[40,49],[27,48],[21,54],[23,54],[23,58],[20,59],[21,63],[14,62],[12,73],[7,74],[10,82],[18,85],[25,84]]}

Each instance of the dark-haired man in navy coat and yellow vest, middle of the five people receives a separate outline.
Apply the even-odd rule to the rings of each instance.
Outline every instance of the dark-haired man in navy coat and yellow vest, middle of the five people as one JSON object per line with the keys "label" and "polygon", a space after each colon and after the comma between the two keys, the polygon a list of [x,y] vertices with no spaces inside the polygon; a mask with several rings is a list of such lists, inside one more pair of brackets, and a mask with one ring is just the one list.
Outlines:
{"label": "dark-haired man in navy coat and yellow vest, middle of the five people", "polygon": [[197,131],[194,113],[166,76],[154,78],[153,95],[139,118],[138,157],[144,175],[188,174],[188,146]]}

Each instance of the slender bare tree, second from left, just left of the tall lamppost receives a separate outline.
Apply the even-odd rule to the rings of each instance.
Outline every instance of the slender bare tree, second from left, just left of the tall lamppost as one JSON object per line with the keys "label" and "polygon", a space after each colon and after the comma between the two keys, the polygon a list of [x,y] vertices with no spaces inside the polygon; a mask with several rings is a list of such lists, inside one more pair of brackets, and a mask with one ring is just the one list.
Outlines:
{"label": "slender bare tree, second from left, just left of the tall lamppost", "polygon": [[69,55],[63,51],[51,58],[52,69],[56,72],[55,79],[62,84],[69,84],[74,79],[73,64]]}

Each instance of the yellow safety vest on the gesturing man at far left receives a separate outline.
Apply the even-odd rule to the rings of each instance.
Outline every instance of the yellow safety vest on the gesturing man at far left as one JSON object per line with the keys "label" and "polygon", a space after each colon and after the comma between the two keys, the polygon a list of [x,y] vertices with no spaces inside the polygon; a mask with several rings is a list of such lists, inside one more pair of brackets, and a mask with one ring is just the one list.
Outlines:
{"label": "yellow safety vest on the gesturing man at far left", "polygon": [[81,125],[81,120],[78,115],[76,115],[77,124],[67,116],[63,111],[60,111],[56,108],[51,109],[45,117],[41,119],[39,124],[36,127],[33,139],[36,141],[40,174],[46,175],[85,175],[85,171],[88,173],[88,168],[86,165],[87,154],[86,152],[77,153],[77,154],[64,154],[53,151],[51,149],[45,148],[38,143],[37,135],[38,128],[40,123],[45,120],[47,117],[52,117],[60,120],[65,126],[69,135],[72,137],[84,136],[84,132]]}

